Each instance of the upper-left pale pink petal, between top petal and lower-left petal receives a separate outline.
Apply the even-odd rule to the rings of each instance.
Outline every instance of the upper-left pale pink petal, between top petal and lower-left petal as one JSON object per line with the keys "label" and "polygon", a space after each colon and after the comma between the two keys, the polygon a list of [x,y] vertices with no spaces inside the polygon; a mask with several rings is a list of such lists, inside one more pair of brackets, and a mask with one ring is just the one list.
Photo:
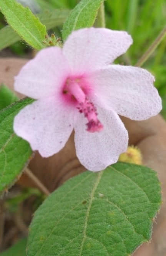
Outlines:
{"label": "upper-left pale pink petal, between top petal and lower-left petal", "polygon": [[40,99],[56,93],[70,72],[59,47],[45,48],[22,67],[15,77],[14,88],[33,99]]}

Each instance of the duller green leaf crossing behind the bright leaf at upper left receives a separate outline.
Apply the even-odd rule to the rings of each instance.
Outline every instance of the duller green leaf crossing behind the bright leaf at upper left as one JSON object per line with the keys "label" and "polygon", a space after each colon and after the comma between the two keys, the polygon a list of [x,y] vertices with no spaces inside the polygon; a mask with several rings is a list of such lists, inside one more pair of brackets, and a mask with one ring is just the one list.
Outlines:
{"label": "duller green leaf crossing behind the bright leaf at upper left", "polygon": [[[48,30],[65,22],[69,13],[70,10],[54,10],[53,12],[45,11],[39,13],[37,16]],[[22,39],[10,26],[3,27],[3,29],[0,30],[0,38],[0,51]]]}

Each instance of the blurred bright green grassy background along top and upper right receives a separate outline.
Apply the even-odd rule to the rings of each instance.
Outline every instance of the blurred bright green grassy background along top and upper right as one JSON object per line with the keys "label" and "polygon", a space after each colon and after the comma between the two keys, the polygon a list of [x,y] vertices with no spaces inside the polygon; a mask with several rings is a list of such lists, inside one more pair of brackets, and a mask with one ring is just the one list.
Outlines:
{"label": "blurred bright green grassy background along top and upper right", "polygon": [[[43,12],[53,9],[72,9],[79,0],[17,0],[24,6],[29,6],[32,12]],[[128,52],[115,62],[125,65],[134,65],[156,39],[159,32],[166,25],[166,1],[158,0],[106,0],[105,2],[106,27],[114,30],[126,30],[133,38],[133,45]],[[5,24],[0,13],[0,28]],[[61,36],[62,27],[51,29],[50,33]],[[26,57],[30,50],[24,42],[17,42],[10,46],[12,52]],[[144,63],[155,77],[155,86],[163,100],[161,114],[166,118],[166,37]]]}

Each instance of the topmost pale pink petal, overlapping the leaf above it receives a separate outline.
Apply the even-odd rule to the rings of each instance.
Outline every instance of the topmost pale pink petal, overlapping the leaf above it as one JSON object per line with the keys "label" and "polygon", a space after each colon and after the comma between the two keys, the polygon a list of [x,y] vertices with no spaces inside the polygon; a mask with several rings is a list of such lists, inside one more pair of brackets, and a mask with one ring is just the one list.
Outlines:
{"label": "topmost pale pink petal, overlapping the leaf above it", "polygon": [[76,30],[63,45],[63,54],[73,72],[89,72],[112,63],[133,40],[125,31],[104,28]]}

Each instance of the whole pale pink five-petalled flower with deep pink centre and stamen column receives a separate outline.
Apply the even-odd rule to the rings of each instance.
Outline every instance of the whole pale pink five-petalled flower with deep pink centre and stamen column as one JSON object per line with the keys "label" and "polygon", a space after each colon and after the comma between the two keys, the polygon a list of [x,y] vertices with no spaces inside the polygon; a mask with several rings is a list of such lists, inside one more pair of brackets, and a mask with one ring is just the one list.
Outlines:
{"label": "whole pale pink five-petalled flower with deep pink centre and stamen column", "polygon": [[50,157],[74,129],[76,155],[88,170],[115,163],[128,145],[118,115],[145,120],[161,110],[148,71],[111,64],[131,44],[124,31],[89,28],[72,32],[63,49],[38,52],[15,77],[15,90],[37,99],[15,116],[15,133]]}

